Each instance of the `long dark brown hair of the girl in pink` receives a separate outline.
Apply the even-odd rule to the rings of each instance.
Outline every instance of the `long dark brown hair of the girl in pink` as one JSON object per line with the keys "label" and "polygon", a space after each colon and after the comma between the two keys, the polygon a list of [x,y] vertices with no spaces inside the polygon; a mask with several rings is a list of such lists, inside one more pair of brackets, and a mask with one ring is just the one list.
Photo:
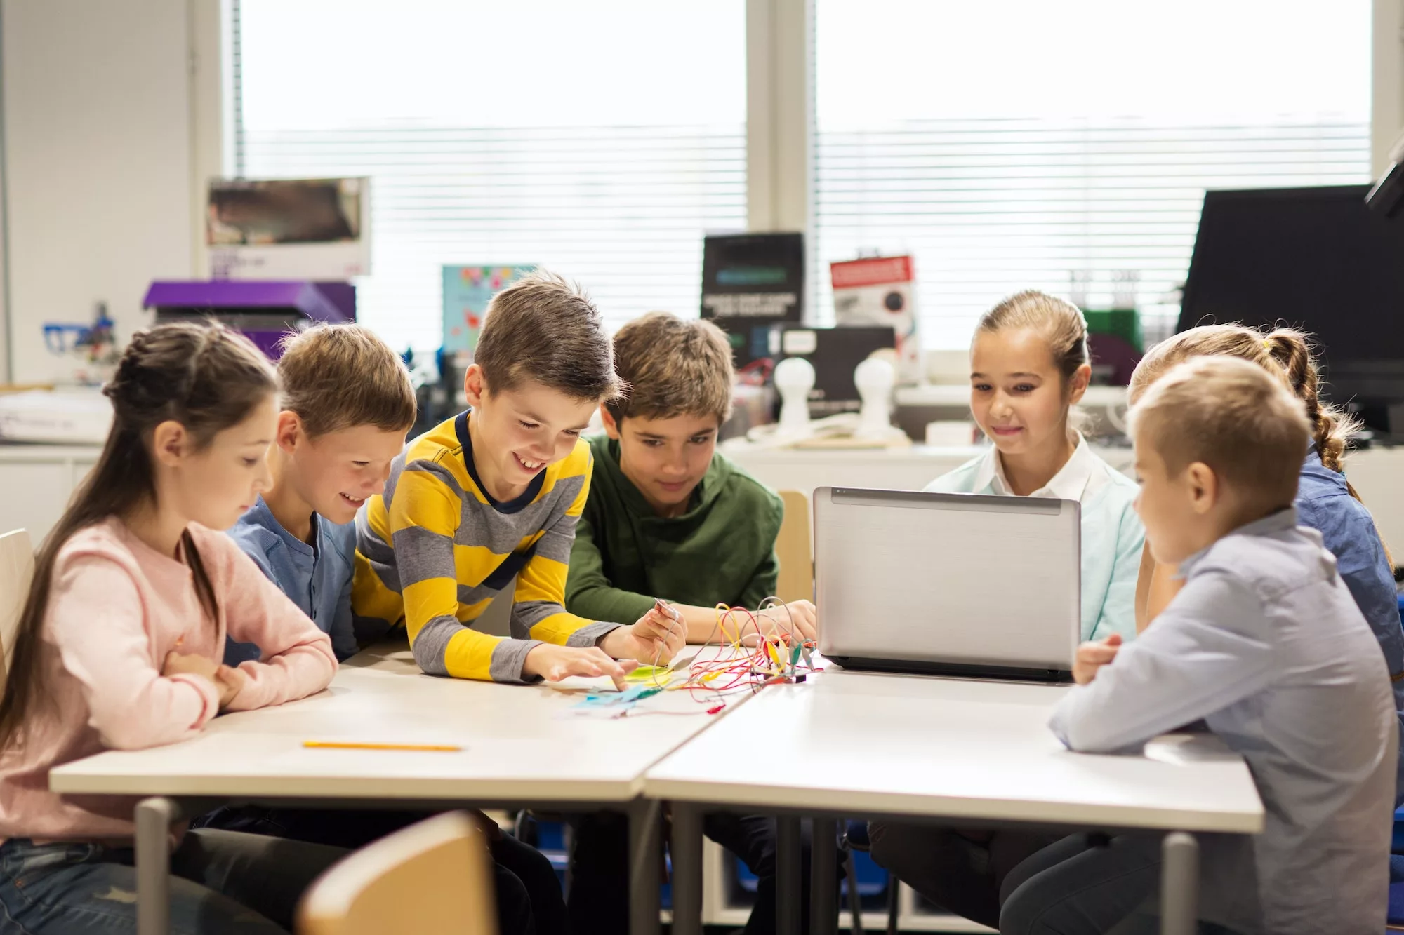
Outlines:
{"label": "long dark brown hair of the girl in pink", "polygon": [[[39,646],[53,563],[63,543],[80,529],[108,517],[129,515],[154,500],[149,445],[159,424],[180,423],[197,448],[205,448],[218,432],[241,423],[277,389],[272,364],[249,338],[220,324],[160,324],[138,333],[126,345],[117,376],[102,387],[112,400],[112,428],[102,455],[35,553],[34,581],[20,614],[10,672],[0,696],[0,747],[10,745],[35,702],[44,696]],[[188,532],[181,536],[181,545],[199,602],[211,621],[218,621],[215,590]]]}

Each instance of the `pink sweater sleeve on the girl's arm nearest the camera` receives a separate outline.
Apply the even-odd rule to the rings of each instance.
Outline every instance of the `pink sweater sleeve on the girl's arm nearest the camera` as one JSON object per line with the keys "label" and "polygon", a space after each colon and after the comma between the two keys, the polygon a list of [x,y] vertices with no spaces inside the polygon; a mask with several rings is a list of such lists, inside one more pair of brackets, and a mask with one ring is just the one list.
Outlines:
{"label": "pink sweater sleeve on the girl's arm nearest the camera", "polygon": [[166,678],[152,660],[140,592],[126,569],[83,555],[55,569],[45,639],[81,684],[88,724],[117,750],[194,736],[219,712],[198,675]]}

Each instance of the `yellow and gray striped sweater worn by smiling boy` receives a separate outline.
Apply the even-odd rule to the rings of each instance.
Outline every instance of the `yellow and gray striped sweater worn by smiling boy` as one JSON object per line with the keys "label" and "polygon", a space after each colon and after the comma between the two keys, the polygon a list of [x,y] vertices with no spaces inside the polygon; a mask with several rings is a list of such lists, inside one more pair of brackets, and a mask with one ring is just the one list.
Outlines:
{"label": "yellow and gray striped sweater worn by smiling boy", "polygon": [[[594,646],[616,626],[564,608],[570,545],[590,493],[590,445],[581,439],[522,496],[497,501],[473,468],[468,416],[411,441],[385,493],[357,515],[351,605],[361,619],[403,622],[414,661],[431,675],[524,681],[522,663],[538,643]],[[512,637],[473,630],[512,576]]]}

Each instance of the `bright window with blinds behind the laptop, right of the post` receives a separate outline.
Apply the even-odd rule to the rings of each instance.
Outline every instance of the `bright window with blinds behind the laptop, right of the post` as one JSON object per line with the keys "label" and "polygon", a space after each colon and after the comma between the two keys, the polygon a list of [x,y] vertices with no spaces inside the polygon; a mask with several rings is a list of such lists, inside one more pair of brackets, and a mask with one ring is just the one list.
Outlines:
{"label": "bright window with blinds behind the laptop, right of the post", "polygon": [[1206,188],[1369,180],[1367,0],[816,3],[816,307],[910,251],[928,348],[1022,288],[1174,314]]}

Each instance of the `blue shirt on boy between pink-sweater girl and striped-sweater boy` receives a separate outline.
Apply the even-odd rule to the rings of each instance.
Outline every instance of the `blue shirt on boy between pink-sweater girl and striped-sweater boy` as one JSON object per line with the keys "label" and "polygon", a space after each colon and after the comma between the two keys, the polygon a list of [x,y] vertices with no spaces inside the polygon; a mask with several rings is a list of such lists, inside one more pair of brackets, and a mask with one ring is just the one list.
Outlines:
{"label": "blue shirt on boy between pink-sweater girl and striped-sweater boy", "polygon": [[[282,528],[258,497],[229,531],[239,548],[302,609],[343,660],[357,653],[351,623],[351,573],[355,570],[355,524],[336,525],[312,514],[316,548]],[[225,644],[225,663],[257,660],[253,643]]]}

